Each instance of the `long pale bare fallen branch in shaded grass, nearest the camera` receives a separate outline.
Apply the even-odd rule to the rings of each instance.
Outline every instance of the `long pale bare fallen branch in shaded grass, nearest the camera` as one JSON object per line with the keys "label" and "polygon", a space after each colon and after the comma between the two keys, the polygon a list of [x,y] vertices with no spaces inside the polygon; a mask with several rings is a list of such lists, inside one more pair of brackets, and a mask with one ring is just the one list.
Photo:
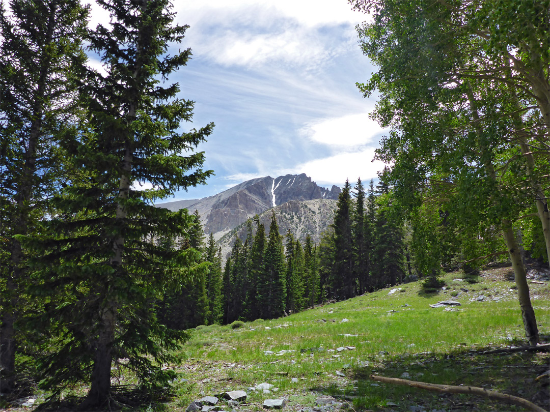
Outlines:
{"label": "long pale bare fallen branch in shaded grass, nearest the camera", "polygon": [[517,396],[508,395],[496,391],[489,391],[488,389],[478,388],[475,386],[451,386],[451,385],[437,385],[436,383],[416,382],[406,379],[389,378],[385,376],[370,375],[372,380],[384,383],[394,383],[395,385],[410,386],[411,388],[426,389],[427,391],[443,392],[443,393],[466,393],[483,396],[485,398],[502,400],[503,402],[518,405],[520,407],[532,410],[535,412],[547,412],[538,405],[535,405],[529,400],[519,398]]}

